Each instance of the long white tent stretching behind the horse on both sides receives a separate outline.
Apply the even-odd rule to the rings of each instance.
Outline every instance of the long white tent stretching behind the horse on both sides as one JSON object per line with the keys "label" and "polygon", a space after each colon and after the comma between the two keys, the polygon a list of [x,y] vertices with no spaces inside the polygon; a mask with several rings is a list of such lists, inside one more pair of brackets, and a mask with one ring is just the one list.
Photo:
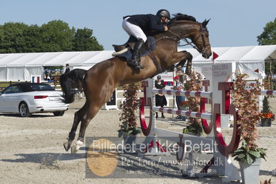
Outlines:
{"label": "long white tent stretching behind the horse on both sides", "polygon": [[[187,50],[193,55],[193,66],[201,71],[202,66],[210,66],[212,59],[204,59],[194,48]],[[264,77],[264,62],[276,60],[276,45],[214,47],[219,55],[217,63],[235,63],[237,70],[248,73],[251,79]],[[57,52],[57,53],[11,53],[0,54],[0,81],[30,80],[30,75],[41,75],[44,66],[64,66],[68,63],[73,68],[90,68],[111,58],[113,50]],[[259,74],[254,71],[259,69]]]}

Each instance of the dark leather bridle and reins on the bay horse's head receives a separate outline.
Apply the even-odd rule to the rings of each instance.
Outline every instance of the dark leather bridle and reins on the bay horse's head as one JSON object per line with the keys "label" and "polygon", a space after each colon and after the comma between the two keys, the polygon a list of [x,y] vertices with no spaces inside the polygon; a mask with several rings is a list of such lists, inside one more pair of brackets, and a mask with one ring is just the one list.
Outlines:
{"label": "dark leather bridle and reins on the bay horse's head", "polygon": [[207,28],[203,28],[203,26],[202,26],[201,23],[200,23],[199,25],[200,25],[200,30],[199,30],[199,31],[200,31],[200,35],[199,35],[199,37],[197,37],[196,39],[194,39],[194,42],[196,42],[196,40],[198,40],[198,39],[201,37],[201,39],[203,40],[203,49],[202,49],[202,50],[199,49],[199,47],[196,46],[194,43],[189,42],[186,38],[180,37],[180,36],[177,35],[176,33],[173,33],[171,30],[168,30],[168,32],[169,32],[169,33],[172,33],[172,35],[175,35],[175,36],[178,38],[178,40],[183,40],[184,42],[186,42],[186,44],[180,45],[180,44],[179,44],[179,41],[178,41],[178,46],[187,46],[187,45],[190,45],[190,46],[192,46],[192,48],[195,48],[196,50],[198,50],[199,53],[205,54],[205,55],[206,55],[206,53],[205,53],[205,52],[206,52],[206,48],[207,48],[207,46],[210,46],[210,44],[206,44],[206,42],[205,42],[204,31],[207,31],[207,32],[208,32],[208,30],[207,30]]}

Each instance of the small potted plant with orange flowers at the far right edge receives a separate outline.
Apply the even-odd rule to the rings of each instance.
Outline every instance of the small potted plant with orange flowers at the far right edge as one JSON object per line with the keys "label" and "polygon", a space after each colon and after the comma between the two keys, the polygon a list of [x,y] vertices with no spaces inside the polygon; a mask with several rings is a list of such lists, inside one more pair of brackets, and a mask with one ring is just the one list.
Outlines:
{"label": "small potted plant with orange flowers at the far right edge", "polygon": [[261,117],[261,127],[271,127],[271,122],[275,120],[275,115],[270,111],[268,98],[266,96],[263,100],[263,110],[259,116]]}

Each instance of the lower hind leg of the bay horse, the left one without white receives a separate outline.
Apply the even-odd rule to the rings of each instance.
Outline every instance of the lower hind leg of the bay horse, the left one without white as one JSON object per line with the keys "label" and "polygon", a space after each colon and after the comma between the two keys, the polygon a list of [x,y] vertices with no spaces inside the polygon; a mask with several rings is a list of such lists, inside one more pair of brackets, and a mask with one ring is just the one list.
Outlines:
{"label": "lower hind leg of the bay horse, the left one without white", "polygon": [[73,140],[75,139],[75,131],[77,130],[77,126],[79,125],[80,121],[82,120],[82,118],[84,117],[84,114],[86,112],[86,103],[84,104],[84,106],[82,107],[82,109],[80,109],[79,111],[75,112],[75,117],[74,117],[74,122],[71,128],[71,131],[69,132],[69,136],[67,138],[67,142],[64,142],[64,149],[66,151],[68,151],[72,145]]}

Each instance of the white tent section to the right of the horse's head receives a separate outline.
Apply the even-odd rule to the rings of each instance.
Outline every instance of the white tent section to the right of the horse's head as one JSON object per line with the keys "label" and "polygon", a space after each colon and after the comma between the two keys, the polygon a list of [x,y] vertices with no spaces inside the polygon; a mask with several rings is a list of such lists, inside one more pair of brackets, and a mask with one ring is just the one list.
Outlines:
{"label": "white tent section to the right of the horse's head", "polygon": [[[195,53],[192,48],[181,50],[187,50],[193,55],[192,66],[200,73],[202,73],[201,68],[213,63],[212,57],[204,59],[199,52]],[[266,75],[264,63],[276,61],[276,45],[214,47],[212,51],[219,55],[215,59],[215,63],[232,63],[233,71],[247,73],[249,75],[248,80],[264,79]],[[257,70],[259,72],[255,72]]]}

